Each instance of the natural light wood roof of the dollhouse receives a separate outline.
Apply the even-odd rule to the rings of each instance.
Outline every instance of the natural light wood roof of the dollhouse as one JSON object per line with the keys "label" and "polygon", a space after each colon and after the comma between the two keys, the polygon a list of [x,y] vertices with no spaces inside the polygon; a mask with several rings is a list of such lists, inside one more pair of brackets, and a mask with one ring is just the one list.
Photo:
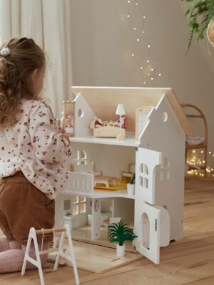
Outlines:
{"label": "natural light wood roof of the dollhouse", "polygon": [[102,120],[114,120],[118,103],[123,103],[128,119],[127,130],[130,131],[136,127],[136,108],[145,105],[156,107],[165,94],[185,135],[192,135],[188,120],[171,88],[73,86],[71,91],[75,96],[82,93],[96,117]]}

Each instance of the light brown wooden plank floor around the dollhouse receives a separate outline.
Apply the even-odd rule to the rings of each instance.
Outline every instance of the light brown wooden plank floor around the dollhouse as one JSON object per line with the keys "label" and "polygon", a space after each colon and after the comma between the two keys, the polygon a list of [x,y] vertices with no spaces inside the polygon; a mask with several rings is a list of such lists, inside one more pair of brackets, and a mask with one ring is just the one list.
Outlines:
{"label": "light brown wooden plank floor around the dollhouse", "polygon": [[[183,239],[161,248],[161,264],[146,258],[103,274],[79,271],[81,284],[87,285],[208,285],[214,284],[214,181],[190,180],[185,185]],[[86,257],[87,259],[87,257]],[[90,262],[90,261],[88,261]],[[71,268],[44,269],[46,285],[75,284]],[[36,285],[36,270],[1,274],[1,285]]]}

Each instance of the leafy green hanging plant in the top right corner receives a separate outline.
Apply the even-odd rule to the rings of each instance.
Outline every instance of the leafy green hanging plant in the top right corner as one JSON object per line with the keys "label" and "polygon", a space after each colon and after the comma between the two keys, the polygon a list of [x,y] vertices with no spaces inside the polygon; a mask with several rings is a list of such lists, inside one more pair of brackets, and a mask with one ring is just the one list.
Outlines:
{"label": "leafy green hanging plant in the top right corner", "polygon": [[[188,50],[193,40],[193,35],[196,34],[197,40],[204,38],[205,30],[208,28],[211,21],[214,18],[214,0],[185,0],[191,3],[189,9],[186,12],[188,16],[188,26],[190,28],[190,39],[188,42]],[[208,31],[207,36],[209,41],[212,39],[212,35]]]}

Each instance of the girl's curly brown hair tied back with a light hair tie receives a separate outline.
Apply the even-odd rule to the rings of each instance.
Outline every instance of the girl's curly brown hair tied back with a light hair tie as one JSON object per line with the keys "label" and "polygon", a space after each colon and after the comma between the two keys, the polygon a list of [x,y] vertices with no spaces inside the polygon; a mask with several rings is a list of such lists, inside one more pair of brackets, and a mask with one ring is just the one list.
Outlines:
{"label": "girl's curly brown hair tied back with a light hair tie", "polygon": [[46,63],[44,51],[31,38],[12,38],[0,50],[4,48],[9,53],[0,54],[0,125],[16,122],[21,99],[41,99],[34,94],[30,75]]}

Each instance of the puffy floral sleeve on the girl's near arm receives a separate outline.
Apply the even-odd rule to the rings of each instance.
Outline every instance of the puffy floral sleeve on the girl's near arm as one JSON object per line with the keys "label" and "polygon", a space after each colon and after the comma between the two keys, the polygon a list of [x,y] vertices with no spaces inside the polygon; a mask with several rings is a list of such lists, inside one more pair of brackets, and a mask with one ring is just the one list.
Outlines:
{"label": "puffy floral sleeve on the girl's near arm", "polygon": [[42,163],[63,163],[71,156],[71,147],[59,133],[56,118],[45,103],[35,103],[29,114],[29,134],[36,157]]}

